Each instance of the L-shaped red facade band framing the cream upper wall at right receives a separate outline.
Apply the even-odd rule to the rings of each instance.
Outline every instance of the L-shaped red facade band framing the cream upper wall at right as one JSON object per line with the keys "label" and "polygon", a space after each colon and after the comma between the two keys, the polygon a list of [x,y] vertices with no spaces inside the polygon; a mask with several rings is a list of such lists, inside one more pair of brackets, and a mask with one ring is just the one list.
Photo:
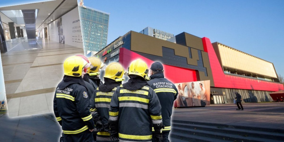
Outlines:
{"label": "L-shaped red facade band framing the cream upper wall at right", "polygon": [[214,87],[263,91],[283,90],[283,85],[280,83],[243,78],[233,75],[225,75],[209,38],[202,38],[202,42],[204,51],[206,51],[209,56],[210,67],[212,70],[213,81],[215,85]]}

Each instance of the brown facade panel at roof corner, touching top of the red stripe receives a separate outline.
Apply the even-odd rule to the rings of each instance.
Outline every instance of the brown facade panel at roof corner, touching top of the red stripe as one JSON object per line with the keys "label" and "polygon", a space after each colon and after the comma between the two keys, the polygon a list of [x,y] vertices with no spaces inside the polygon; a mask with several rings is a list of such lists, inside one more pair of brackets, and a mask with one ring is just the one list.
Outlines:
{"label": "brown facade panel at roof corner, touching top of the red stripe", "polygon": [[186,46],[204,51],[202,38],[185,33]]}

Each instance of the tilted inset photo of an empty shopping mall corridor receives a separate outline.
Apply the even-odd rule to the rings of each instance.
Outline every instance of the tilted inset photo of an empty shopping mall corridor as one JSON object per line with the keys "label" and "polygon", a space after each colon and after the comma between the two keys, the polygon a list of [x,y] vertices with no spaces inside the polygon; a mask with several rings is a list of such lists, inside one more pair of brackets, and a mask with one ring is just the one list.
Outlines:
{"label": "tilted inset photo of an empty shopping mall corridor", "polygon": [[7,103],[2,89],[0,101],[9,117],[53,112],[64,60],[84,54],[78,9],[77,0],[0,7]]}

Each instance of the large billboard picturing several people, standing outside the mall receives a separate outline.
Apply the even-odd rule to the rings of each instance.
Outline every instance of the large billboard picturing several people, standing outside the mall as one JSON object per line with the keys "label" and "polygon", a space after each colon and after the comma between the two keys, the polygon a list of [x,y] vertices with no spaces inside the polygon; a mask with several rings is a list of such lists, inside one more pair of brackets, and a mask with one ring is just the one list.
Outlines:
{"label": "large billboard picturing several people, standing outside the mall", "polygon": [[178,96],[174,107],[210,105],[210,80],[175,83],[175,86]]}

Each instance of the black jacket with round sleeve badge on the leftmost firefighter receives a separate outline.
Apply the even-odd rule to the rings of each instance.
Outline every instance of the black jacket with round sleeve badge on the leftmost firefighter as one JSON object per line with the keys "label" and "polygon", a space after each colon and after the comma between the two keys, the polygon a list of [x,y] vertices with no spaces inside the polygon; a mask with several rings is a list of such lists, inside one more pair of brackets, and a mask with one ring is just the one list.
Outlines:
{"label": "black jacket with round sleeve badge on the leftmost firefighter", "polygon": [[64,134],[78,134],[94,128],[85,83],[81,77],[64,76],[54,95],[54,114]]}

